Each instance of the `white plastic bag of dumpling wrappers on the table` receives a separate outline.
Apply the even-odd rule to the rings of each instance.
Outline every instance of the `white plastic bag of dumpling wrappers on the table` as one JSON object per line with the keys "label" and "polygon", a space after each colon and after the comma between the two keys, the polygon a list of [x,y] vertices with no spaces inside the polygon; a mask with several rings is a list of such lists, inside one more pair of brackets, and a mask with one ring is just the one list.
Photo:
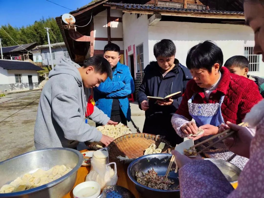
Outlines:
{"label": "white plastic bag of dumpling wrappers on the table", "polygon": [[[100,150],[105,150],[105,148]],[[111,168],[111,164],[114,164],[114,170]],[[101,190],[103,190],[103,188],[105,188],[106,186],[116,185],[117,179],[118,178],[115,162],[102,164],[98,162],[96,158],[91,159],[91,171],[86,176],[85,181],[95,181],[100,184]]]}

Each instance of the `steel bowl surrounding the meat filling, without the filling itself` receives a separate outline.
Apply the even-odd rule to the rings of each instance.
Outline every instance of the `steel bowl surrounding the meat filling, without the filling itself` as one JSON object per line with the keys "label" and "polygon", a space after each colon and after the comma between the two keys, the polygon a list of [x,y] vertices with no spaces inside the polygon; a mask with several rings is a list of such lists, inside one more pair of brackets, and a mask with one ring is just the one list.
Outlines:
{"label": "steel bowl surrounding the meat filling, without the filling itself", "polygon": [[[169,161],[171,154],[161,153],[161,154],[151,154],[145,155],[138,159],[135,159],[130,163],[128,167],[128,177],[136,185],[136,189],[143,197],[162,197],[162,198],[171,198],[171,197],[180,197],[180,190],[157,190],[143,186],[136,181],[136,172],[143,176],[143,172],[147,172],[149,169],[154,168],[154,171],[158,173],[159,176],[164,176],[166,174],[167,168],[169,166]],[[175,163],[173,163],[172,168],[175,168]],[[169,173],[169,179],[175,181],[175,184],[171,188],[179,185],[178,173],[174,171]]]}

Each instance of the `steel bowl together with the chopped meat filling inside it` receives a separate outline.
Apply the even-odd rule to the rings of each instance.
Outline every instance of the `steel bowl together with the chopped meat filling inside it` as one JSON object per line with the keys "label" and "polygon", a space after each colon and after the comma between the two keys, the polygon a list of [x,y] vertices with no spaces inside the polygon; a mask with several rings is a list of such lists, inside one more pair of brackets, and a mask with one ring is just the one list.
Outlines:
{"label": "steel bowl together with the chopped meat filling inside it", "polygon": [[143,197],[180,197],[178,173],[175,163],[169,172],[166,171],[172,155],[167,153],[144,155],[135,159],[128,167],[128,176]]}

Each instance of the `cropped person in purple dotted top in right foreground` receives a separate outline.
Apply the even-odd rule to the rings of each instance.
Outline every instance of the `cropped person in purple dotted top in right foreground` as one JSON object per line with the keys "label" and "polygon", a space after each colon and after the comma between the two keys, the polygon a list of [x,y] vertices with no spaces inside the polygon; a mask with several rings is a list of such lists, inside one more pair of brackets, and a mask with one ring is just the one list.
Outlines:
{"label": "cropped person in purple dotted top in right foreground", "polygon": [[[264,62],[264,0],[245,0],[246,25],[255,35],[255,54],[262,54]],[[251,136],[245,127],[230,122],[221,125],[219,132],[231,128],[237,133],[224,140],[227,148],[249,158],[234,190],[221,171],[206,160],[192,160],[172,151],[180,167],[181,198],[244,198],[263,197],[264,194],[264,100],[255,105],[246,115],[244,122],[256,127],[256,136]]]}

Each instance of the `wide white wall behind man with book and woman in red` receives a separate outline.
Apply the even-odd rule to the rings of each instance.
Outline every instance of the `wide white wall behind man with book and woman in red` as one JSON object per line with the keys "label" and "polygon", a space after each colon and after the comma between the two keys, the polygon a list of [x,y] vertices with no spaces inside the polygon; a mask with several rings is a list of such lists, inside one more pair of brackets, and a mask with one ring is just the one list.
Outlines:
{"label": "wide white wall behind man with book and woman in red", "polygon": [[[244,55],[244,47],[254,46],[254,34],[244,25],[159,21],[157,25],[149,26],[148,30],[150,61],[155,60],[153,46],[162,39],[173,40],[176,58],[183,65],[186,64],[188,50],[205,40],[214,41],[222,49],[224,62],[231,56]],[[259,72],[250,74],[264,77],[264,63],[261,60],[262,56]]]}

